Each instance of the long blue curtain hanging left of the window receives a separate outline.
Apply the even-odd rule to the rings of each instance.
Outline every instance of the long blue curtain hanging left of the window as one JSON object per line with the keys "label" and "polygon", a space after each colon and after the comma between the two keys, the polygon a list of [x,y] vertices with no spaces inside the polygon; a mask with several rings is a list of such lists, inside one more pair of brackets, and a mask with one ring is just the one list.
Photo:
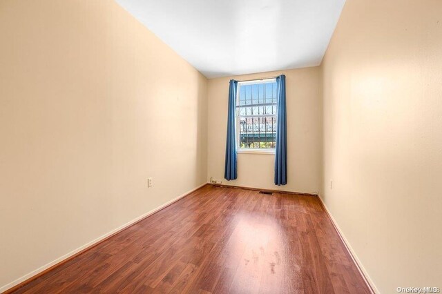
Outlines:
{"label": "long blue curtain hanging left of the window", "polygon": [[226,164],[224,165],[224,179],[230,181],[238,177],[236,170],[236,133],[235,133],[235,110],[236,89],[238,81],[230,80],[229,87],[229,113],[227,115],[227,141],[226,141]]}

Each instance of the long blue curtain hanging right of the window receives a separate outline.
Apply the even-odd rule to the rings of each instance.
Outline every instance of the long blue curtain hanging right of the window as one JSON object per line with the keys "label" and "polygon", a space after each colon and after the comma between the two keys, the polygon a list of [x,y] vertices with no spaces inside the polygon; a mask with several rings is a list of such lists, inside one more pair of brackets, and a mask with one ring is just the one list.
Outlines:
{"label": "long blue curtain hanging right of the window", "polygon": [[276,78],[278,101],[276,110],[275,185],[287,184],[287,112],[285,109],[285,75]]}

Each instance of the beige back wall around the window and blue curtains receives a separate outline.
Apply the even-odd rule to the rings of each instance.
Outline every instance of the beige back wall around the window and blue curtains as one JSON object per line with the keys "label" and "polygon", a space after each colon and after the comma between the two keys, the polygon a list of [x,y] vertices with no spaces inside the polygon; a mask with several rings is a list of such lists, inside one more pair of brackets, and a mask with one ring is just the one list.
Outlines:
{"label": "beige back wall around the window and blue curtains", "polygon": [[[224,179],[224,156],[227,132],[227,102],[230,79],[260,79],[286,75],[287,94],[287,185],[273,184],[274,155],[238,153],[238,179]],[[209,79],[208,88],[208,169],[207,177],[222,184],[318,193],[321,170],[320,68],[302,68],[280,72]]]}

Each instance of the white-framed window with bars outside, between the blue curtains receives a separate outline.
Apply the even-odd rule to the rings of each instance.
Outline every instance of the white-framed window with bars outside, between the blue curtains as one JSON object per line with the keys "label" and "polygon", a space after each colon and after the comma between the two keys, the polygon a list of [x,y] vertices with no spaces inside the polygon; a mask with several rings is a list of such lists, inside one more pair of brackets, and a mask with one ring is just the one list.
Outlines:
{"label": "white-framed window with bars outside, between the blue curtains", "polygon": [[238,151],[274,153],[276,79],[240,81],[236,99]]}

